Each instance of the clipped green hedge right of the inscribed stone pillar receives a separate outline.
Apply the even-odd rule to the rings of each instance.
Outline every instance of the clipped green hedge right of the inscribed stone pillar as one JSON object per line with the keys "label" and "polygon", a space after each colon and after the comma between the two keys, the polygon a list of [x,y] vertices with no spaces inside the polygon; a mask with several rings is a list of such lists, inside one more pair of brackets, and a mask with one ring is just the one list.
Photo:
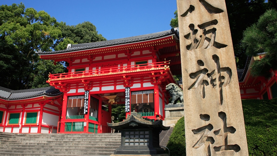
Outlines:
{"label": "clipped green hedge right of the inscribed stone pillar", "polygon": [[277,99],[242,100],[249,155],[277,156]]}

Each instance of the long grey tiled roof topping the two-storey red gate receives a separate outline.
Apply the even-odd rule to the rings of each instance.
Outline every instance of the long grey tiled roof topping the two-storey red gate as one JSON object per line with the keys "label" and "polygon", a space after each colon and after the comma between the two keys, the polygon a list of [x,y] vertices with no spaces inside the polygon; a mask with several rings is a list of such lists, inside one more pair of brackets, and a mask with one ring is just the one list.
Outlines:
{"label": "long grey tiled roof topping the two-storey red gate", "polygon": [[83,49],[92,49],[92,48],[100,48],[105,46],[111,46],[111,45],[118,45],[118,44],[126,44],[126,43],[132,43],[132,42],[139,42],[139,41],[145,41],[150,39],[156,39],[168,35],[176,34],[177,37],[177,30],[174,29],[162,31],[158,33],[152,33],[152,34],[146,34],[146,35],[139,35],[134,37],[127,37],[122,39],[112,39],[107,41],[100,41],[100,42],[92,42],[92,43],[84,43],[84,44],[73,44],[71,45],[71,48],[65,49],[65,50],[58,50],[58,51],[48,51],[48,52],[38,52],[39,55],[44,54],[56,54],[56,53],[65,53],[70,51],[76,51],[76,50],[83,50]]}

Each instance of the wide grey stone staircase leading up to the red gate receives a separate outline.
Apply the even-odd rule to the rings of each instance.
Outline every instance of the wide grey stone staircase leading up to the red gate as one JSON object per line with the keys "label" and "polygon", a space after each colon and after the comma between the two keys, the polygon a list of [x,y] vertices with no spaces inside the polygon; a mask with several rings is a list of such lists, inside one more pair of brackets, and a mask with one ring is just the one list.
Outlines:
{"label": "wide grey stone staircase leading up to the red gate", "polygon": [[14,134],[0,132],[0,155],[108,156],[120,146],[121,133]]}

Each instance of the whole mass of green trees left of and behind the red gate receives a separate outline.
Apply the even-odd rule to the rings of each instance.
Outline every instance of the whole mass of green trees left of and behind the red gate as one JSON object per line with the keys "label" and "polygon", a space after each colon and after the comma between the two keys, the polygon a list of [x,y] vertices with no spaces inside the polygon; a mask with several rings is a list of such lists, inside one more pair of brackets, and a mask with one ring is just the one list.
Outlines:
{"label": "whole mass of green trees left of and behind the red gate", "polygon": [[90,22],[69,26],[23,3],[0,6],[0,86],[13,90],[49,86],[51,74],[67,72],[66,62],[41,60],[35,53],[67,44],[106,40]]}

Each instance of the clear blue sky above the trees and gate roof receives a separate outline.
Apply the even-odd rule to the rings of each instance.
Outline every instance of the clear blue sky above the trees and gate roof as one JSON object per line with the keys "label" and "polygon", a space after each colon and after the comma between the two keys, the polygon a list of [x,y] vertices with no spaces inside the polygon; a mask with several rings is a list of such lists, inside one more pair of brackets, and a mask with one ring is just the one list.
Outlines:
{"label": "clear blue sky above the trees and gate roof", "polygon": [[20,2],[69,25],[90,21],[108,40],[169,30],[177,9],[176,0],[0,0],[0,5]]}

